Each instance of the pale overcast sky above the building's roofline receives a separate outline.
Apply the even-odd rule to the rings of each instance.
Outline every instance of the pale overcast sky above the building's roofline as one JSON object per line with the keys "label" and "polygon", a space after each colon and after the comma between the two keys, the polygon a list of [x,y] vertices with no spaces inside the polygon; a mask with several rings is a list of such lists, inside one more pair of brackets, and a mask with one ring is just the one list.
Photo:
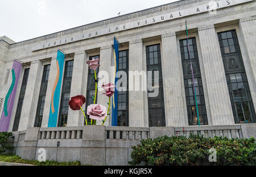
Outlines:
{"label": "pale overcast sky above the building's roofline", "polygon": [[19,42],[177,0],[0,0],[0,36]]}

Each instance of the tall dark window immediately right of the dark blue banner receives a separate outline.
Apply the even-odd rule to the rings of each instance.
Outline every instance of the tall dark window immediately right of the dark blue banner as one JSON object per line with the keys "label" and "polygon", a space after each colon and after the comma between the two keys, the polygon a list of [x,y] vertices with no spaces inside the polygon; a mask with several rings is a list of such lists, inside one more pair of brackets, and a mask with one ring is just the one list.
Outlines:
{"label": "tall dark window immediately right of the dark blue banner", "polygon": [[[126,91],[118,91],[118,126],[129,126],[129,50],[119,51],[118,70],[125,71],[127,75]],[[121,87],[124,87],[123,83]]]}

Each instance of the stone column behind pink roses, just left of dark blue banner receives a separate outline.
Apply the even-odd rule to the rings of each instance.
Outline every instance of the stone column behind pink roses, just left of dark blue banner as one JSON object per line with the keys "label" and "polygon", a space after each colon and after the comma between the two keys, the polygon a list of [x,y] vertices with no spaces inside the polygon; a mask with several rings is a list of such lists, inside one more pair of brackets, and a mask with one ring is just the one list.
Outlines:
{"label": "stone column behind pink roses, just left of dark blue banner", "polygon": [[[109,75],[109,78],[104,78],[105,82],[111,82],[114,83],[113,81],[113,70],[114,70],[114,64],[113,64],[113,48],[112,45],[106,45],[104,47],[101,47],[100,50],[100,72],[106,72]],[[97,75],[98,80],[100,81],[100,79],[103,78],[99,78],[99,74]],[[98,85],[98,88],[101,88],[101,85]],[[97,99],[97,103],[101,104],[102,106],[105,106],[108,109],[108,102],[109,102],[109,98],[106,95],[103,95],[105,91],[102,91],[101,89],[98,89],[98,99]],[[112,99],[110,102],[110,111],[109,111],[110,115],[108,116],[108,118],[106,119],[105,122],[105,126],[111,126],[111,113],[112,113]],[[102,121],[97,121],[97,125],[101,125]]]}

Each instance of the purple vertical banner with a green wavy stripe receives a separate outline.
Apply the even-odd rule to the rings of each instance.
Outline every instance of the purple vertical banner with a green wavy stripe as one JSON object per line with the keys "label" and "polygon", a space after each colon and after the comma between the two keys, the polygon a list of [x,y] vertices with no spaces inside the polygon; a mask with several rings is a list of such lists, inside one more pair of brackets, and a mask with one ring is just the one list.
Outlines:
{"label": "purple vertical banner with a green wavy stripe", "polygon": [[13,103],[16,95],[21,69],[22,64],[14,60],[13,69],[11,69],[13,81],[11,82],[11,86],[5,97],[5,103],[3,104],[3,112],[0,120],[0,132],[8,132],[11,119],[11,112],[13,111]]}

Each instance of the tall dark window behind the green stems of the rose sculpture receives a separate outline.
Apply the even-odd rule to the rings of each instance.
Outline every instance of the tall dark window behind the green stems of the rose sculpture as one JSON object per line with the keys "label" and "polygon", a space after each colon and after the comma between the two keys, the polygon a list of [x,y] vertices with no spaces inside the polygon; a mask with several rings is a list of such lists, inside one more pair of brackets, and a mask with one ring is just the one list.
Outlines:
{"label": "tall dark window behind the green stems of the rose sculpture", "polygon": [[[89,57],[89,60],[92,60],[92,58],[94,58],[96,60],[97,58],[100,58],[100,56],[98,55],[98,56]],[[97,68],[97,70],[96,70],[97,75],[98,75],[98,70],[99,70],[99,68]],[[93,98],[95,96],[95,86],[96,86],[96,82],[95,82],[95,78],[94,78],[94,70],[89,69],[88,79],[87,79],[86,102],[85,102],[86,109],[90,104],[93,104],[93,102],[94,102]],[[97,95],[98,95],[98,93],[97,93]],[[98,97],[97,95],[96,95],[95,104],[97,104],[97,97]],[[86,115],[87,122],[90,123],[90,117],[87,114],[85,114],[85,115]],[[85,124],[85,121],[84,121],[84,124]]]}

